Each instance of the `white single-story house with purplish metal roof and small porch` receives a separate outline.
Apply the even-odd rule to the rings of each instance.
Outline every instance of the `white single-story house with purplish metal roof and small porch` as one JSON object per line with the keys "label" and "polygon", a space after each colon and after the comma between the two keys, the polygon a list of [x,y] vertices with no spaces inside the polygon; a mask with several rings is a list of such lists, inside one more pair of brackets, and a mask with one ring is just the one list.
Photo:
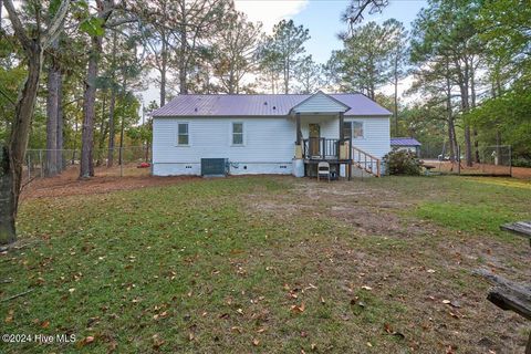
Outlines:
{"label": "white single-story house with purplish metal roof and small porch", "polygon": [[379,176],[391,150],[391,112],[358,93],[186,94],[152,116],[156,176]]}

